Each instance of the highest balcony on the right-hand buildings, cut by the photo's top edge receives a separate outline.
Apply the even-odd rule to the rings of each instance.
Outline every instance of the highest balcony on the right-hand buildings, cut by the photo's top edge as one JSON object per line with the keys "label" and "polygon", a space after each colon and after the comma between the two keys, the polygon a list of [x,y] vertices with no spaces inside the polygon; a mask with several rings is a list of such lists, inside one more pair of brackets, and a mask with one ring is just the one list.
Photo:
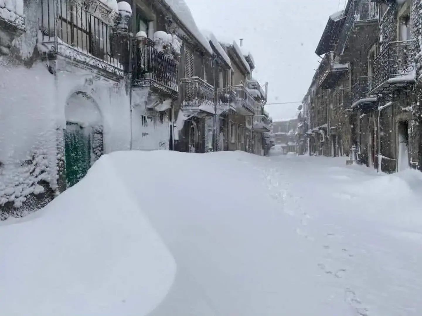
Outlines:
{"label": "highest balcony on the right-hand buildings, cut by the photo's top edge", "polygon": [[373,0],[351,0],[346,8],[346,21],[338,36],[337,55],[351,62],[357,51],[366,51],[376,41],[379,3]]}

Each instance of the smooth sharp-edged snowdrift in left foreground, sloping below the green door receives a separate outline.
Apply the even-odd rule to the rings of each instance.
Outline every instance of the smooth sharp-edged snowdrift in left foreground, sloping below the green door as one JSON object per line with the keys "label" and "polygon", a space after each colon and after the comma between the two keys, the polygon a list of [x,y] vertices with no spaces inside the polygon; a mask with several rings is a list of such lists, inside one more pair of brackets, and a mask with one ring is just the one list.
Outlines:
{"label": "smooth sharp-edged snowdrift in left foreground, sloping below the green door", "polygon": [[3,315],[145,315],[176,263],[109,156],[42,210],[0,224]]}

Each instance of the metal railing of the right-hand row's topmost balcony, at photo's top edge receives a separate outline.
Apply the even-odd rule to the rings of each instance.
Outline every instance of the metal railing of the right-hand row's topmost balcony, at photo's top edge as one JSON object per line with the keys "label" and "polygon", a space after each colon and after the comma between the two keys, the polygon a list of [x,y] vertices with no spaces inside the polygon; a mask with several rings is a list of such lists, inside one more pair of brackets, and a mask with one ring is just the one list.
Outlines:
{"label": "metal railing of the right-hand row's topmost balcony, at photo's top edge", "polygon": [[378,19],[378,3],[373,0],[351,0],[346,21],[338,37],[337,54],[341,55],[352,33],[355,22]]}

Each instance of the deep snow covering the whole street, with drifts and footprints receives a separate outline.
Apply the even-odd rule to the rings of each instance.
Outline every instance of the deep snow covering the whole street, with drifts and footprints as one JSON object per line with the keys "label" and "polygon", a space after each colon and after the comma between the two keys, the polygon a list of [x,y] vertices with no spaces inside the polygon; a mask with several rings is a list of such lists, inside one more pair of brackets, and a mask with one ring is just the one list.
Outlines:
{"label": "deep snow covering the whole street, with drifts and footprints", "polygon": [[0,314],[416,315],[422,174],[345,159],[105,155],[0,224]]}

